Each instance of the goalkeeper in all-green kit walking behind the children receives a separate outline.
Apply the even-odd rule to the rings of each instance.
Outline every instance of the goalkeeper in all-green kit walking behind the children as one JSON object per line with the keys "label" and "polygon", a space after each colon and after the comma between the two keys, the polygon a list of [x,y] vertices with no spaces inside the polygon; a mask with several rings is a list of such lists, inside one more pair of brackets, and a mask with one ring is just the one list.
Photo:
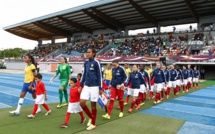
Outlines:
{"label": "goalkeeper in all-green kit walking behind the children", "polygon": [[[60,74],[60,86],[59,86],[59,99],[60,103],[57,105],[57,108],[61,108],[62,106],[68,105],[68,92],[67,92],[67,86],[69,83],[69,80],[71,78],[71,71],[70,67],[67,63],[66,57],[61,58],[61,64],[58,66],[55,75],[51,78],[50,83],[53,82],[54,78]],[[62,104],[63,102],[63,95],[66,100],[66,103]]]}

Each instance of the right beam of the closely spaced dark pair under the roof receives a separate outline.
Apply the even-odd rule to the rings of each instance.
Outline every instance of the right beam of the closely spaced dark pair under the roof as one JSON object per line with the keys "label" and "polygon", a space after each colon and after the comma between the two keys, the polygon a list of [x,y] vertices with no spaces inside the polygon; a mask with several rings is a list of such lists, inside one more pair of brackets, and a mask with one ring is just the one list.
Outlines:
{"label": "right beam of the closely spaced dark pair under the roof", "polygon": [[107,23],[111,23],[112,25],[117,26],[121,30],[125,30],[125,26],[121,22],[115,20],[114,18],[111,18],[110,16],[106,15],[105,13],[102,13],[101,11],[97,10],[96,8],[91,8],[91,9],[93,10],[93,12],[95,12],[100,18],[102,18]]}

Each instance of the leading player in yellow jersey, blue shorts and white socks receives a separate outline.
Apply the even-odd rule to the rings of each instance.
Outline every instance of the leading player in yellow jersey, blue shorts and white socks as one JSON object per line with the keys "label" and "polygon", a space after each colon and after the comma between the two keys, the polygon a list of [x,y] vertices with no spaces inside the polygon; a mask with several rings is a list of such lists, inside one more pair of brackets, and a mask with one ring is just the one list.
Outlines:
{"label": "leading player in yellow jersey, blue shorts and white socks", "polygon": [[[34,99],[36,99],[35,90],[32,90],[32,87],[34,87],[34,84],[35,84],[34,76],[36,75],[35,61],[34,61],[33,56],[31,56],[31,55],[25,56],[25,62],[27,63],[27,66],[25,67],[24,84],[22,87],[18,105],[17,105],[16,110],[9,112],[10,114],[14,114],[14,115],[20,114],[20,109],[22,107],[22,104],[24,102],[24,98],[25,98],[25,95],[27,92],[32,94],[32,97]],[[38,108],[37,111],[41,111],[40,108]]]}

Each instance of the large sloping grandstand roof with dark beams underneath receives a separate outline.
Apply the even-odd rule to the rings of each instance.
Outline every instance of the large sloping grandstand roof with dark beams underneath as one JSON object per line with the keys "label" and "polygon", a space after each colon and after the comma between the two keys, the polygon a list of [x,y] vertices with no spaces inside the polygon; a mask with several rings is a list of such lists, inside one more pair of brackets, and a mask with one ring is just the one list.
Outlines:
{"label": "large sloping grandstand roof with dark beams underneath", "polygon": [[[197,23],[214,15],[214,0],[101,0],[4,27],[17,36],[38,40],[93,33]],[[136,28],[135,28],[136,27]]]}

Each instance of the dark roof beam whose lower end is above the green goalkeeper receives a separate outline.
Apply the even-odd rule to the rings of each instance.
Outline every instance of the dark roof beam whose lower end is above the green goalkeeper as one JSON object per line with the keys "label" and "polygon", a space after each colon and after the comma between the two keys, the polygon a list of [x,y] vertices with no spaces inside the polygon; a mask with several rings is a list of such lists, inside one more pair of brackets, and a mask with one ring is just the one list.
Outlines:
{"label": "dark roof beam whose lower end is above the green goalkeeper", "polygon": [[57,36],[67,36],[67,35],[71,34],[69,31],[57,28],[57,27],[52,26],[50,24],[45,24],[43,22],[33,22],[33,24],[38,26],[38,27],[40,27],[40,28],[42,28],[42,29],[44,29],[44,30],[46,30],[46,31],[54,33]]}

